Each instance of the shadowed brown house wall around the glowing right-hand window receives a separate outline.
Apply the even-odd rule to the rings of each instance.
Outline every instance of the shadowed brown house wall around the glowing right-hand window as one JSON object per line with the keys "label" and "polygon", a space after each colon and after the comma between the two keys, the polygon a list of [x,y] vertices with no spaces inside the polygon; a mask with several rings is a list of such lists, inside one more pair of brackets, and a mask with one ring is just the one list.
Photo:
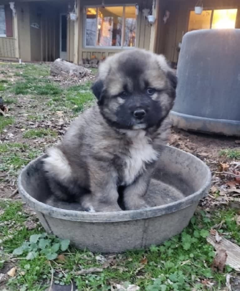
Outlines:
{"label": "shadowed brown house wall around the glowing right-hand window", "polygon": [[[159,40],[158,53],[163,53],[168,60],[177,61],[178,43],[187,32],[190,10],[194,10],[196,0],[168,0],[165,1],[161,11],[170,11],[170,18],[162,25],[162,34]],[[240,1],[239,0],[207,0],[204,1],[204,9],[230,9],[238,8],[235,28],[240,28]],[[161,17],[161,21],[162,21]]]}

